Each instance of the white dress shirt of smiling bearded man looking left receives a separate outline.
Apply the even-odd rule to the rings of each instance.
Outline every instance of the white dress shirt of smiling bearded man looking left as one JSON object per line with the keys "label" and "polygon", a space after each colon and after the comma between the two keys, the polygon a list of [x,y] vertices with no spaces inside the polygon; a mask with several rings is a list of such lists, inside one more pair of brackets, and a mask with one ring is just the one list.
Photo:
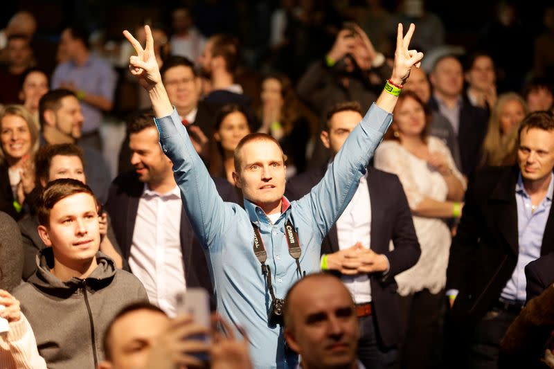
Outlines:
{"label": "white dress shirt of smiling bearded man looking left", "polygon": [[136,211],[129,267],[143,282],[150,303],[175,316],[176,296],[186,290],[181,253],[181,194],[161,195],[144,185]]}

